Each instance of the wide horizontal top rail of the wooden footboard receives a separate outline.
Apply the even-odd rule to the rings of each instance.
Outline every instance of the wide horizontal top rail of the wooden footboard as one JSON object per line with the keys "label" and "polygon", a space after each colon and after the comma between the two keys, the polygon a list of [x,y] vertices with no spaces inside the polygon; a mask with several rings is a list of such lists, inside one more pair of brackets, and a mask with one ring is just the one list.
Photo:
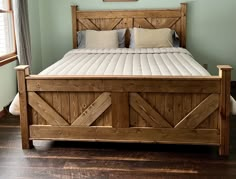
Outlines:
{"label": "wide horizontal top rail of the wooden footboard", "polygon": [[[39,79],[41,78],[41,79]],[[166,93],[220,93],[218,78],[166,78],[166,77],[38,77],[27,80],[28,91],[66,92],[166,92]],[[109,78],[113,78],[110,80]],[[44,79],[44,80],[43,80]],[[57,80],[55,80],[57,79]]]}

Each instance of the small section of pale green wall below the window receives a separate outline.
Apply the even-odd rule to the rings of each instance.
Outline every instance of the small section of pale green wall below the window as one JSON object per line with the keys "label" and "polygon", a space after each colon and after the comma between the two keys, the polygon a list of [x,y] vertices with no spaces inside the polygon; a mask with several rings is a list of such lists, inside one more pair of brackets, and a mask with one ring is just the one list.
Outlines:
{"label": "small section of pale green wall below the window", "polygon": [[16,61],[0,67],[0,111],[13,100],[16,95]]}

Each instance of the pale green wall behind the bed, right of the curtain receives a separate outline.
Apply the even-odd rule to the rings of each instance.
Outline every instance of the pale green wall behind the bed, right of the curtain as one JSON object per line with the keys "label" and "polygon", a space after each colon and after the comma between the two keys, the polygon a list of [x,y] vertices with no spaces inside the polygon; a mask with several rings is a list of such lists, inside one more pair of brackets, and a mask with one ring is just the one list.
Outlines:
{"label": "pale green wall behind the bed, right of the curtain", "polygon": [[[104,3],[102,0],[29,0],[33,69],[46,68],[72,48],[70,5],[81,10],[176,8],[188,2],[187,48],[216,75],[216,65],[236,68],[235,0],[138,0]],[[38,8],[38,9],[37,9]],[[40,58],[42,60],[40,60]],[[233,72],[236,80],[236,71]]]}

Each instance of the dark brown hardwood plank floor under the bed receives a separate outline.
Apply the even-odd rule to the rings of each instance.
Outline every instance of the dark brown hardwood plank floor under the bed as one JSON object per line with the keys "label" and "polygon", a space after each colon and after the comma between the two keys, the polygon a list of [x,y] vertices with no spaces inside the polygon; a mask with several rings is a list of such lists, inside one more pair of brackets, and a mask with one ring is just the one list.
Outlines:
{"label": "dark brown hardwood plank floor under the bed", "polygon": [[185,145],[36,141],[22,150],[19,119],[8,115],[0,119],[0,178],[236,178],[236,117],[230,138],[228,158]]}

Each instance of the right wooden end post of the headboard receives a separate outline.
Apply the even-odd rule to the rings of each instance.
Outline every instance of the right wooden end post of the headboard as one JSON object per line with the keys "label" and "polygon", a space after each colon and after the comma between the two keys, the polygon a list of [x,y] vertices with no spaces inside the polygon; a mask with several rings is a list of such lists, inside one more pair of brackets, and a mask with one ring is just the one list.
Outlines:
{"label": "right wooden end post of the headboard", "polygon": [[186,48],[187,3],[181,3],[181,47]]}

